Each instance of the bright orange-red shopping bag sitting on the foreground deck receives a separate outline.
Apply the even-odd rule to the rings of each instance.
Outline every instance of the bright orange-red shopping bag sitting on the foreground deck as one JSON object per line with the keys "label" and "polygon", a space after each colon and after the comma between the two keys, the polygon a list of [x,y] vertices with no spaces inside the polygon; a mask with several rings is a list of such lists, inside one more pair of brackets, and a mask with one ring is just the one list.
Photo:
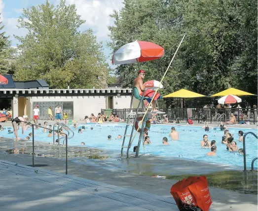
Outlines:
{"label": "bright orange-red shopping bag sitting on the foreground deck", "polygon": [[170,193],[180,209],[184,205],[198,207],[208,211],[211,204],[211,195],[206,176],[190,176],[187,179],[172,185]]}

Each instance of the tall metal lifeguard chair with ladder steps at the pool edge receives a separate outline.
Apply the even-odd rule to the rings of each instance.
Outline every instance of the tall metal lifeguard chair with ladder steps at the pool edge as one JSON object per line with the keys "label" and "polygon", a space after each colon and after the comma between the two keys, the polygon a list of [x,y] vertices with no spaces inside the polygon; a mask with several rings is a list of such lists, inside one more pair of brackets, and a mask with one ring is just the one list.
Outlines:
{"label": "tall metal lifeguard chair with ladder steps at the pool edge", "polygon": [[[124,131],[123,142],[122,142],[122,148],[121,148],[121,158],[123,157],[123,149],[124,148],[127,149],[126,158],[129,158],[129,149],[131,148],[132,143],[133,143],[133,133],[134,133],[134,130],[135,130],[135,124],[137,122],[137,118],[141,117],[146,112],[146,108],[145,108],[145,105],[144,105],[144,100],[146,100],[146,97],[144,97],[144,95],[145,95],[145,92],[146,92],[147,89],[152,89],[153,90],[154,88],[146,88],[144,90],[142,96],[140,96],[140,94],[138,92],[138,89],[136,87],[134,87],[133,90],[132,90],[130,112],[129,112],[128,116],[127,116],[127,122],[126,122],[126,127],[125,127],[125,131]],[[134,97],[137,100],[140,101],[139,105],[136,108],[136,112],[132,111],[133,98]],[[140,108],[141,105],[142,105],[142,112],[139,112],[139,108]],[[162,114],[162,113],[165,113],[165,112],[151,112],[150,110],[148,110],[147,111],[147,115],[145,115],[144,119],[142,119],[143,122],[142,122],[141,130],[139,130],[140,131],[139,132],[140,136],[139,136],[139,140],[138,140],[138,145],[137,145],[138,147],[137,147],[137,150],[136,150],[135,157],[138,157],[138,155],[139,155],[141,141],[143,141],[143,144],[144,144],[144,136],[143,136],[143,134],[144,134],[144,128],[146,126],[147,120],[152,116],[152,114]],[[132,126],[131,132],[129,134],[127,134],[128,127],[130,128],[130,126]],[[128,145],[125,145],[126,137],[130,137],[130,139],[128,141]]]}

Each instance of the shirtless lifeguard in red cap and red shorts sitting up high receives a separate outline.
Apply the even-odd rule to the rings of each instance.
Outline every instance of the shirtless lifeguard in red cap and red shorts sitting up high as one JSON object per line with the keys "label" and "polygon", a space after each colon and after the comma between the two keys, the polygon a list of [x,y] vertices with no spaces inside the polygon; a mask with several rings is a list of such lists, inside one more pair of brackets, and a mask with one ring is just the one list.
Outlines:
{"label": "shirtless lifeguard in red cap and red shorts sitting up high", "polygon": [[[138,71],[138,77],[134,79],[134,86],[138,89],[139,95],[143,95],[145,86],[144,86],[144,82],[143,79],[145,78],[146,75],[146,71],[144,70],[139,70]],[[152,101],[152,107],[153,107],[153,112],[160,112],[157,109],[157,99],[161,98],[161,95],[159,93],[156,93],[155,96],[155,91],[151,90],[151,89],[147,89],[144,96],[147,97],[147,101],[150,102],[151,99],[153,98]]]}

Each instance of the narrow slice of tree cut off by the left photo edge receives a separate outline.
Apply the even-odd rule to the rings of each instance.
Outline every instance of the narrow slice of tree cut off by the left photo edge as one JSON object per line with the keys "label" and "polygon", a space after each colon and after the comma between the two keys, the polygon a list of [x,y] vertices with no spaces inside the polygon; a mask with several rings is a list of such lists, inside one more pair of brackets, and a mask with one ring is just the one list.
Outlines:
{"label": "narrow slice of tree cut off by the left photo edge", "polygon": [[[0,25],[2,22],[0,22]],[[13,58],[14,49],[11,48],[9,36],[5,36],[3,32],[4,26],[0,26],[0,74],[7,74],[11,71],[11,60]]]}

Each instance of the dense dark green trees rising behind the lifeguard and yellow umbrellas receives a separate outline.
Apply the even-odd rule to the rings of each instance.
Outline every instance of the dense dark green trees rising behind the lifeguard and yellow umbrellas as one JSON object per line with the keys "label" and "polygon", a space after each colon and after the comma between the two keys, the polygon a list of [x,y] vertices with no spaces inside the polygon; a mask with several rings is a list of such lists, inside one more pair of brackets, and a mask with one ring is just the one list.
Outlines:
{"label": "dense dark green trees rising behind the lifeguard and yellow umbrellas", "polygon": [[[140,64],[147,80],[161,79],[187,34],[163,81],[163,94],[185,88],[209,96],[229,87],[257,93],[257,1],[124,0],[111,17],[113,52],[135,40],[164,47],[163,58]],[[132,87],[137,70],[137,64],[120,65],[116,73]]]}

